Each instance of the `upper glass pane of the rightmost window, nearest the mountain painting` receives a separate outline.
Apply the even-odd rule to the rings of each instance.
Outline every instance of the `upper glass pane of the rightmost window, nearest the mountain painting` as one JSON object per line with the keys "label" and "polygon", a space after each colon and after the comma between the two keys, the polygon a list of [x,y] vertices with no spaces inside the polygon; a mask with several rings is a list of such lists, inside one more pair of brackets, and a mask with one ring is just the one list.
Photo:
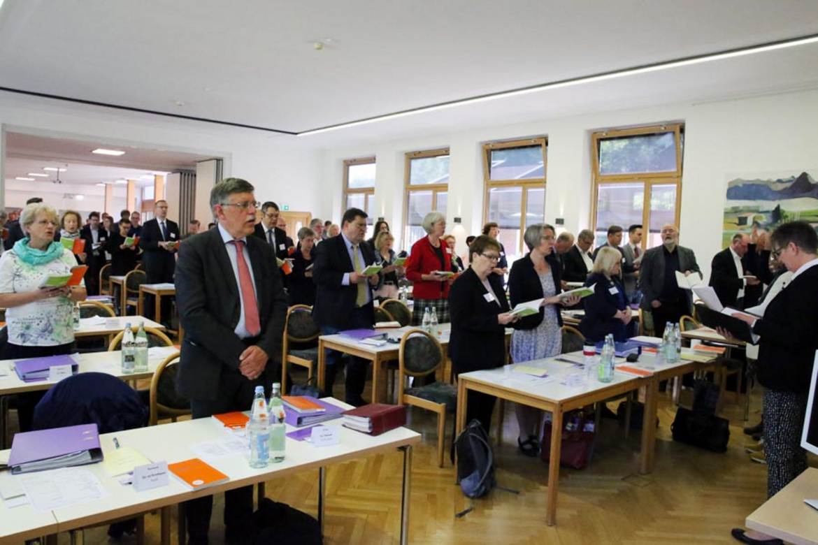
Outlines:
{"label": "upper glass pane of the rightmost window, nearest the mountain painting", "polygon": [[676,172],[675,132],[600,141],[600,174],[640,172]]}

